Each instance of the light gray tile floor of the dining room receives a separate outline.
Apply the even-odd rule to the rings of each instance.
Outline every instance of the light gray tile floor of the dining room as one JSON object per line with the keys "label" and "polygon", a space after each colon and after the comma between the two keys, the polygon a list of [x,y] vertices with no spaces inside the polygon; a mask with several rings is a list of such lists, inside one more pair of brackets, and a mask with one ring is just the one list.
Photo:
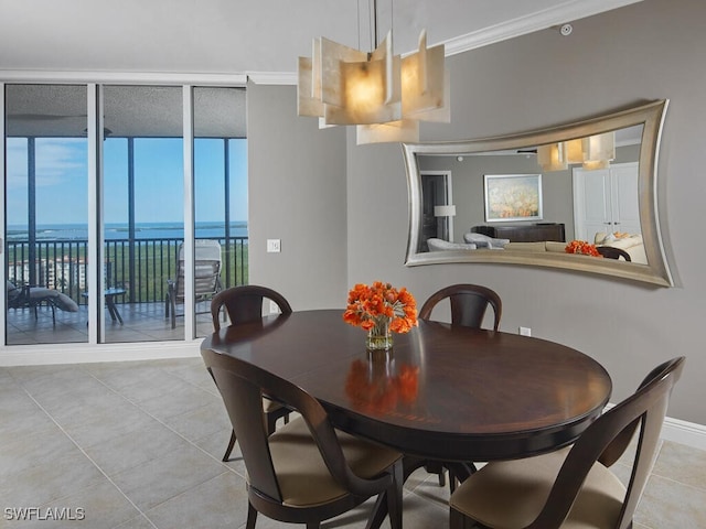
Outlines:
{"label": "light gray tile floor of the dining room", "polygon": [[[229,432],[200,357],[0,368],[0,528],[245,527],[244,465],[221,462]],[[705,528],[705,469],[706,452],[663,443],[635,529]],[[447,527],[448,487],[420,469],[405,488],[405,528]],[[10,519],[28,507],[85,520]],[[323,527],[362,528],[370,507]]]}

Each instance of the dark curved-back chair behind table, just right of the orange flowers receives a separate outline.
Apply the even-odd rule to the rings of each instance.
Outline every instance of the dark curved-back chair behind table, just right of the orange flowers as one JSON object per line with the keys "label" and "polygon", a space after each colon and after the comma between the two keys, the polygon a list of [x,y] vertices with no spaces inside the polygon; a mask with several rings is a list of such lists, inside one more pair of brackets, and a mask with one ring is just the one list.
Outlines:
{"label": "dark curved-back chair behind table, just right of the orange flowers", "polygon": [[448,299],[451,304],[451,324],[480,328],[488,306],[493,307],[493,331],[500,326],[503,303],[500,295],[488,287],[480,284],[451,284],[435,292],[424,302],[419,310],[419,320],[431,320],[434,307]]}

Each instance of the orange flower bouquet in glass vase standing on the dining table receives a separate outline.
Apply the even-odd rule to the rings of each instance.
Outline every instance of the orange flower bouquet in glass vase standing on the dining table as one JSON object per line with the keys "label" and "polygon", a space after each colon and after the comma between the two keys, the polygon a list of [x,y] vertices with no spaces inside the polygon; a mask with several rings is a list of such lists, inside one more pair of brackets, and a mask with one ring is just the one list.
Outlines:
{"label": "orange flower bouquet in glass vase standing on the dining table", "polygon": [[417,325],[417,302],[404,287],[359,283],[349,292],[343,321],[367,331],[368,349],[389,349],[391,333],[408,333]]}

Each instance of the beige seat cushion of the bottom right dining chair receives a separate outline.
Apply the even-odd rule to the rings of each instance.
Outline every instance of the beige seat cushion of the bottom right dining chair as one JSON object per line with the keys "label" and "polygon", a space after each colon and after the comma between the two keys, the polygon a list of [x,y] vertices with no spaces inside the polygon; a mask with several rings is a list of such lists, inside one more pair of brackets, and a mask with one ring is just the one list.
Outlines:
{"label": "beige seat cushion of the bottom right dining chair", "polygon": [[[451,496],[451,507],[493,529],[518,529],[537,517],[564,463],[568,447],[518,461],[489,463]],[[612,529],[625,488],[596,463],[563,529]]]}

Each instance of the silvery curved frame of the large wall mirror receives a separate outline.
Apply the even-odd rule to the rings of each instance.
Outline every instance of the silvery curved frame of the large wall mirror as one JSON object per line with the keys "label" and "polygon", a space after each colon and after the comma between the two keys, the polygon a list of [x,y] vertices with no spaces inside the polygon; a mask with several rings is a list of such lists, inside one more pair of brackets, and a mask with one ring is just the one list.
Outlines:
{"label": "silvery curved frame of the large wall mirror", "polygon": [[[657,155],[667,99],[605,115],[584,121],[534,130],[513,136],[482,138],[429,143],[403,143],[407,169],[409,199],[409,235],[407,238],[408,267],[420,264],[493,262],[569,269],[580,272],[599,273],[616,278],[643,281],[661,287],[672,287],[672,274],[662,244],[660,216],[657,212]],[[513,252],[479,250],[443,250],[419,252],[421,234],[421,175],[419,155],[466,155],[488,151],[502,151],[536,147],[545,143],[582,138],[633,126],[643,126],[639,158],[638,193],[640,224],[648,257],[648,264],[596,259],[558,252]]]}

